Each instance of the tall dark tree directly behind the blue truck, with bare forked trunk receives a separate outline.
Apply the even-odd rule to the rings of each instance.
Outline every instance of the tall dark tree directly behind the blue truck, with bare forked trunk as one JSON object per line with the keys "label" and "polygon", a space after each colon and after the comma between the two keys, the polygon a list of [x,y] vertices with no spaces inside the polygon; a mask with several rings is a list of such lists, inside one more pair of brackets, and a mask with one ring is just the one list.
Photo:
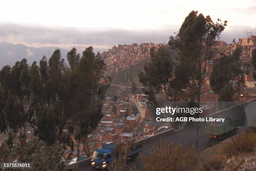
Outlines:
{"label": "tall dark tree directly behind the blue truck, with bare forked trunk", "polygon": [[79,159],[79,143],[83,144],[84,152],[90,157],[88,146],[88,135],[90,135],[98,126],[102,119],[102,104],[105,98],[105,91],[109,83],[100,83],[105,69],[105,63],[100,55],[93,53],[93,48],[86,48],[79,58],[79,55],[72,49],[68,54],[69,61],[77,62],[74,66],[69,63],[73,69],[67,77],[67,85],[70,86],[70,115],[72,125],[74,125],[74,134],[77,141],[77,151]]}

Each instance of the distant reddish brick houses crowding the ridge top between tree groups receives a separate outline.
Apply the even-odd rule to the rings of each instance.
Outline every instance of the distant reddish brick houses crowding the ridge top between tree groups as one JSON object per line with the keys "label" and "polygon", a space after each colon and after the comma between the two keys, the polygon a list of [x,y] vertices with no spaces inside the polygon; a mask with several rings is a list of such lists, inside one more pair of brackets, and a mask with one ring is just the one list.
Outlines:
{"label": "distant reddish brick houses crowding the ridge top between tree groups", "polygon": [[155,50],[160,47],[167,46],[165,44],[154,43],[133,43],[131,45],[113,46],[112,49],[104,51],[100,55],[104,59],[107,67],[106,74],[117,73],[128,66],[136,64],[141,60],[149,57],[150,49],[155,47]]}

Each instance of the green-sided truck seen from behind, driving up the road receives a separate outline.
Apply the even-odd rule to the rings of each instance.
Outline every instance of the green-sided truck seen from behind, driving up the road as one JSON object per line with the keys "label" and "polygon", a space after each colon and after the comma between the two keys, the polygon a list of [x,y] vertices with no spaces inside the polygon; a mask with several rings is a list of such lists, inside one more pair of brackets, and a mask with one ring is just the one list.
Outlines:
{"label": "green-sided truck seen from behind, driving up the road", "polygon": [[[220,117],[221,118],[221,117]],[[238,120],[231,116],[225,117],[224,122],[205,123],[205,133],[211,138],[224,139],[239,129]]]}

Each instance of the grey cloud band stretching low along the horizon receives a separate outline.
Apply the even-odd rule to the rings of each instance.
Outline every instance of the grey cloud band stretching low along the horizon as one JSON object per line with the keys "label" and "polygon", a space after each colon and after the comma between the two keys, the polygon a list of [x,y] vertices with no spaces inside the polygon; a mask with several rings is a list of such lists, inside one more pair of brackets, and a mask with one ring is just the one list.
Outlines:
{"label": "grey cloud band stretching low along the horizon", "polygon": [[[123,28],[72,28],[44,27],[40,25],[22,25],[0,22],[0,41],[22,43],[33,47],[55,46],[108,49],[117,44],[131,43],[167,43],[169,36],[179,30],[178,25],[158,26],[156,29],[123,29]],[[246,37],[245,31],[256,28],[249,26],[230,26],[222,34],[222,40],[231,43],[233,38]]]}

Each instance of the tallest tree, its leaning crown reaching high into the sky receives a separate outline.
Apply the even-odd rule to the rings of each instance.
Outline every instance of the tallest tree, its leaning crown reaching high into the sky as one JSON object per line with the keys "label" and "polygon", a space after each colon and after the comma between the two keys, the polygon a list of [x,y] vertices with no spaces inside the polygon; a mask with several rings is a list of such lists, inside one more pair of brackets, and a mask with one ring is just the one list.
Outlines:
{"label": "tallest tree, its leaning crown reaching high into the sky", "polygon": [[[201,85],[206,76],[207,60],[214,55],[212,45],[225,29],[227,21],[220,19],[215,23],[209,15],[199,14],[192,11],[182,23],[179,33],[170,37],[169,45],[178,53],[179,65],[177,70],[182,68],[185,73],[187,89],[197,96],[200,101]],[[175,75],[179,78],[179,75]],[[195,101],[195,96],[190,93],[190,101]]]}

